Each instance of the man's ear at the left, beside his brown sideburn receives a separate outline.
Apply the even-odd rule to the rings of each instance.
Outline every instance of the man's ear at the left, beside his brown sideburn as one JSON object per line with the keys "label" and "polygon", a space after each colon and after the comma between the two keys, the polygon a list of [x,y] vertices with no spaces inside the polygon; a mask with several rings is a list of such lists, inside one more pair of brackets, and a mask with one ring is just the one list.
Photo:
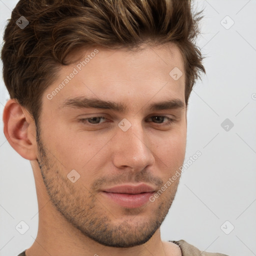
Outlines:
{"label": "man's ear at the left, beside his brown sideburn", "polygon": [[14,150],[25,159],[37,159],[35,123],[25,108],[15,99],[9,99],[2,119],[4,135]]}

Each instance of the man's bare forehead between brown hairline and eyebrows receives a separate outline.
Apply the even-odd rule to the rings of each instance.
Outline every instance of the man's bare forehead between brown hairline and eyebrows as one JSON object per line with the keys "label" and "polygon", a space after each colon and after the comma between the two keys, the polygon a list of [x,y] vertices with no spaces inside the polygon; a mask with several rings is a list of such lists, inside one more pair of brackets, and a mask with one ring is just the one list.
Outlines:
{"label": "man's bare forehead between brown hairline and eyebrows", "polygon": [[[67,59],[72,63],[60,69],[58,79],[47,89],[51,93],[62,84],[50,104],[59,106],[80,96],[123,99],[127,106],[131,102],[139,105],[143,98],[184,100],[184,63],[173,43],[143,45],[139,50],[95,46],[76,50]],[[172,70],[179,72],[178,79]]]}

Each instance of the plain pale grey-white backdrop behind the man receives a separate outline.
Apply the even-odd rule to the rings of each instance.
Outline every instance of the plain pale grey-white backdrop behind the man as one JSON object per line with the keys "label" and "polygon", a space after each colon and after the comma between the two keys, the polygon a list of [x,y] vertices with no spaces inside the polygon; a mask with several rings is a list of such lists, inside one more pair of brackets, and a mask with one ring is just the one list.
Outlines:
{"label": "plain pale grey-white backdrop behind the man", "polygon": [[[17,0],[0,0],[0,33]],[[161,226],[163,240],[184,239],[201,250],[256,255],[256,0],[198,0],[204,7],[198,46],[207,74],[191,92],[186,162]],[[226,29],[232,20],[234,24]],[[223,20],[223,21],[221,21]],[[226,26],[226,28],[224,26]],[[2,36],[0,38],[2,43]],[[0,63],[2,68],[2,63]],[[256,98],[256,96],[254,96]],[[0,113],[8,93],[0,79]],[[230,119],[226,131],[221,123]],[[32,169],[9,145],[0,120],[0,256],[17,256],[34,241],[38,207]],[[21,220],[29,230],[15,229]],[[231,225],[234,229],[228,232]],[[53,255],[52,255],[53,256]]]}

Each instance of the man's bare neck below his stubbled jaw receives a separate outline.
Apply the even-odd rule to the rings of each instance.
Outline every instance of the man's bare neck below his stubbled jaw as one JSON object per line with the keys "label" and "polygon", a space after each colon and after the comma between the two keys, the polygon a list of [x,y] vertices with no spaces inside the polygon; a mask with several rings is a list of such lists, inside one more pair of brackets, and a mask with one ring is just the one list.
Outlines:
{"label": "man's bare neck below his stubbled jaw", "polygon": [[[46,205],[51,204],[48,202]],[[48,208],[48,206],[46,206]],[[45,208],[44,207],[44,208]],[[60,213],[39,212],[38,232],[34,243],[26,250],[26,256],[148,256],[169,255],[160,239],[160,230],[144,244],[129,248],[109,247],[90,239],[60,216]],[[53,213],[54,212],[54,213]],[[58,220],[58,221],[56,221]]]}

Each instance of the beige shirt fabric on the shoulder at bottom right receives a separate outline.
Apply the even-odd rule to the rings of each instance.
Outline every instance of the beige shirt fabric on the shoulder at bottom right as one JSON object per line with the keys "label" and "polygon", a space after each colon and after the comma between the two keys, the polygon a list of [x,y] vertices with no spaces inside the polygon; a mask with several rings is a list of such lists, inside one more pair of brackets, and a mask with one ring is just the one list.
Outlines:
{"label": "beige shirt fabric on the shoulder at bottom right", "polygon": [[173,242],[180,247],[182,256],[228,256],[222,253],[200,251],[198,248],[189,244],[185,240],[170,241],[170,242]]}

